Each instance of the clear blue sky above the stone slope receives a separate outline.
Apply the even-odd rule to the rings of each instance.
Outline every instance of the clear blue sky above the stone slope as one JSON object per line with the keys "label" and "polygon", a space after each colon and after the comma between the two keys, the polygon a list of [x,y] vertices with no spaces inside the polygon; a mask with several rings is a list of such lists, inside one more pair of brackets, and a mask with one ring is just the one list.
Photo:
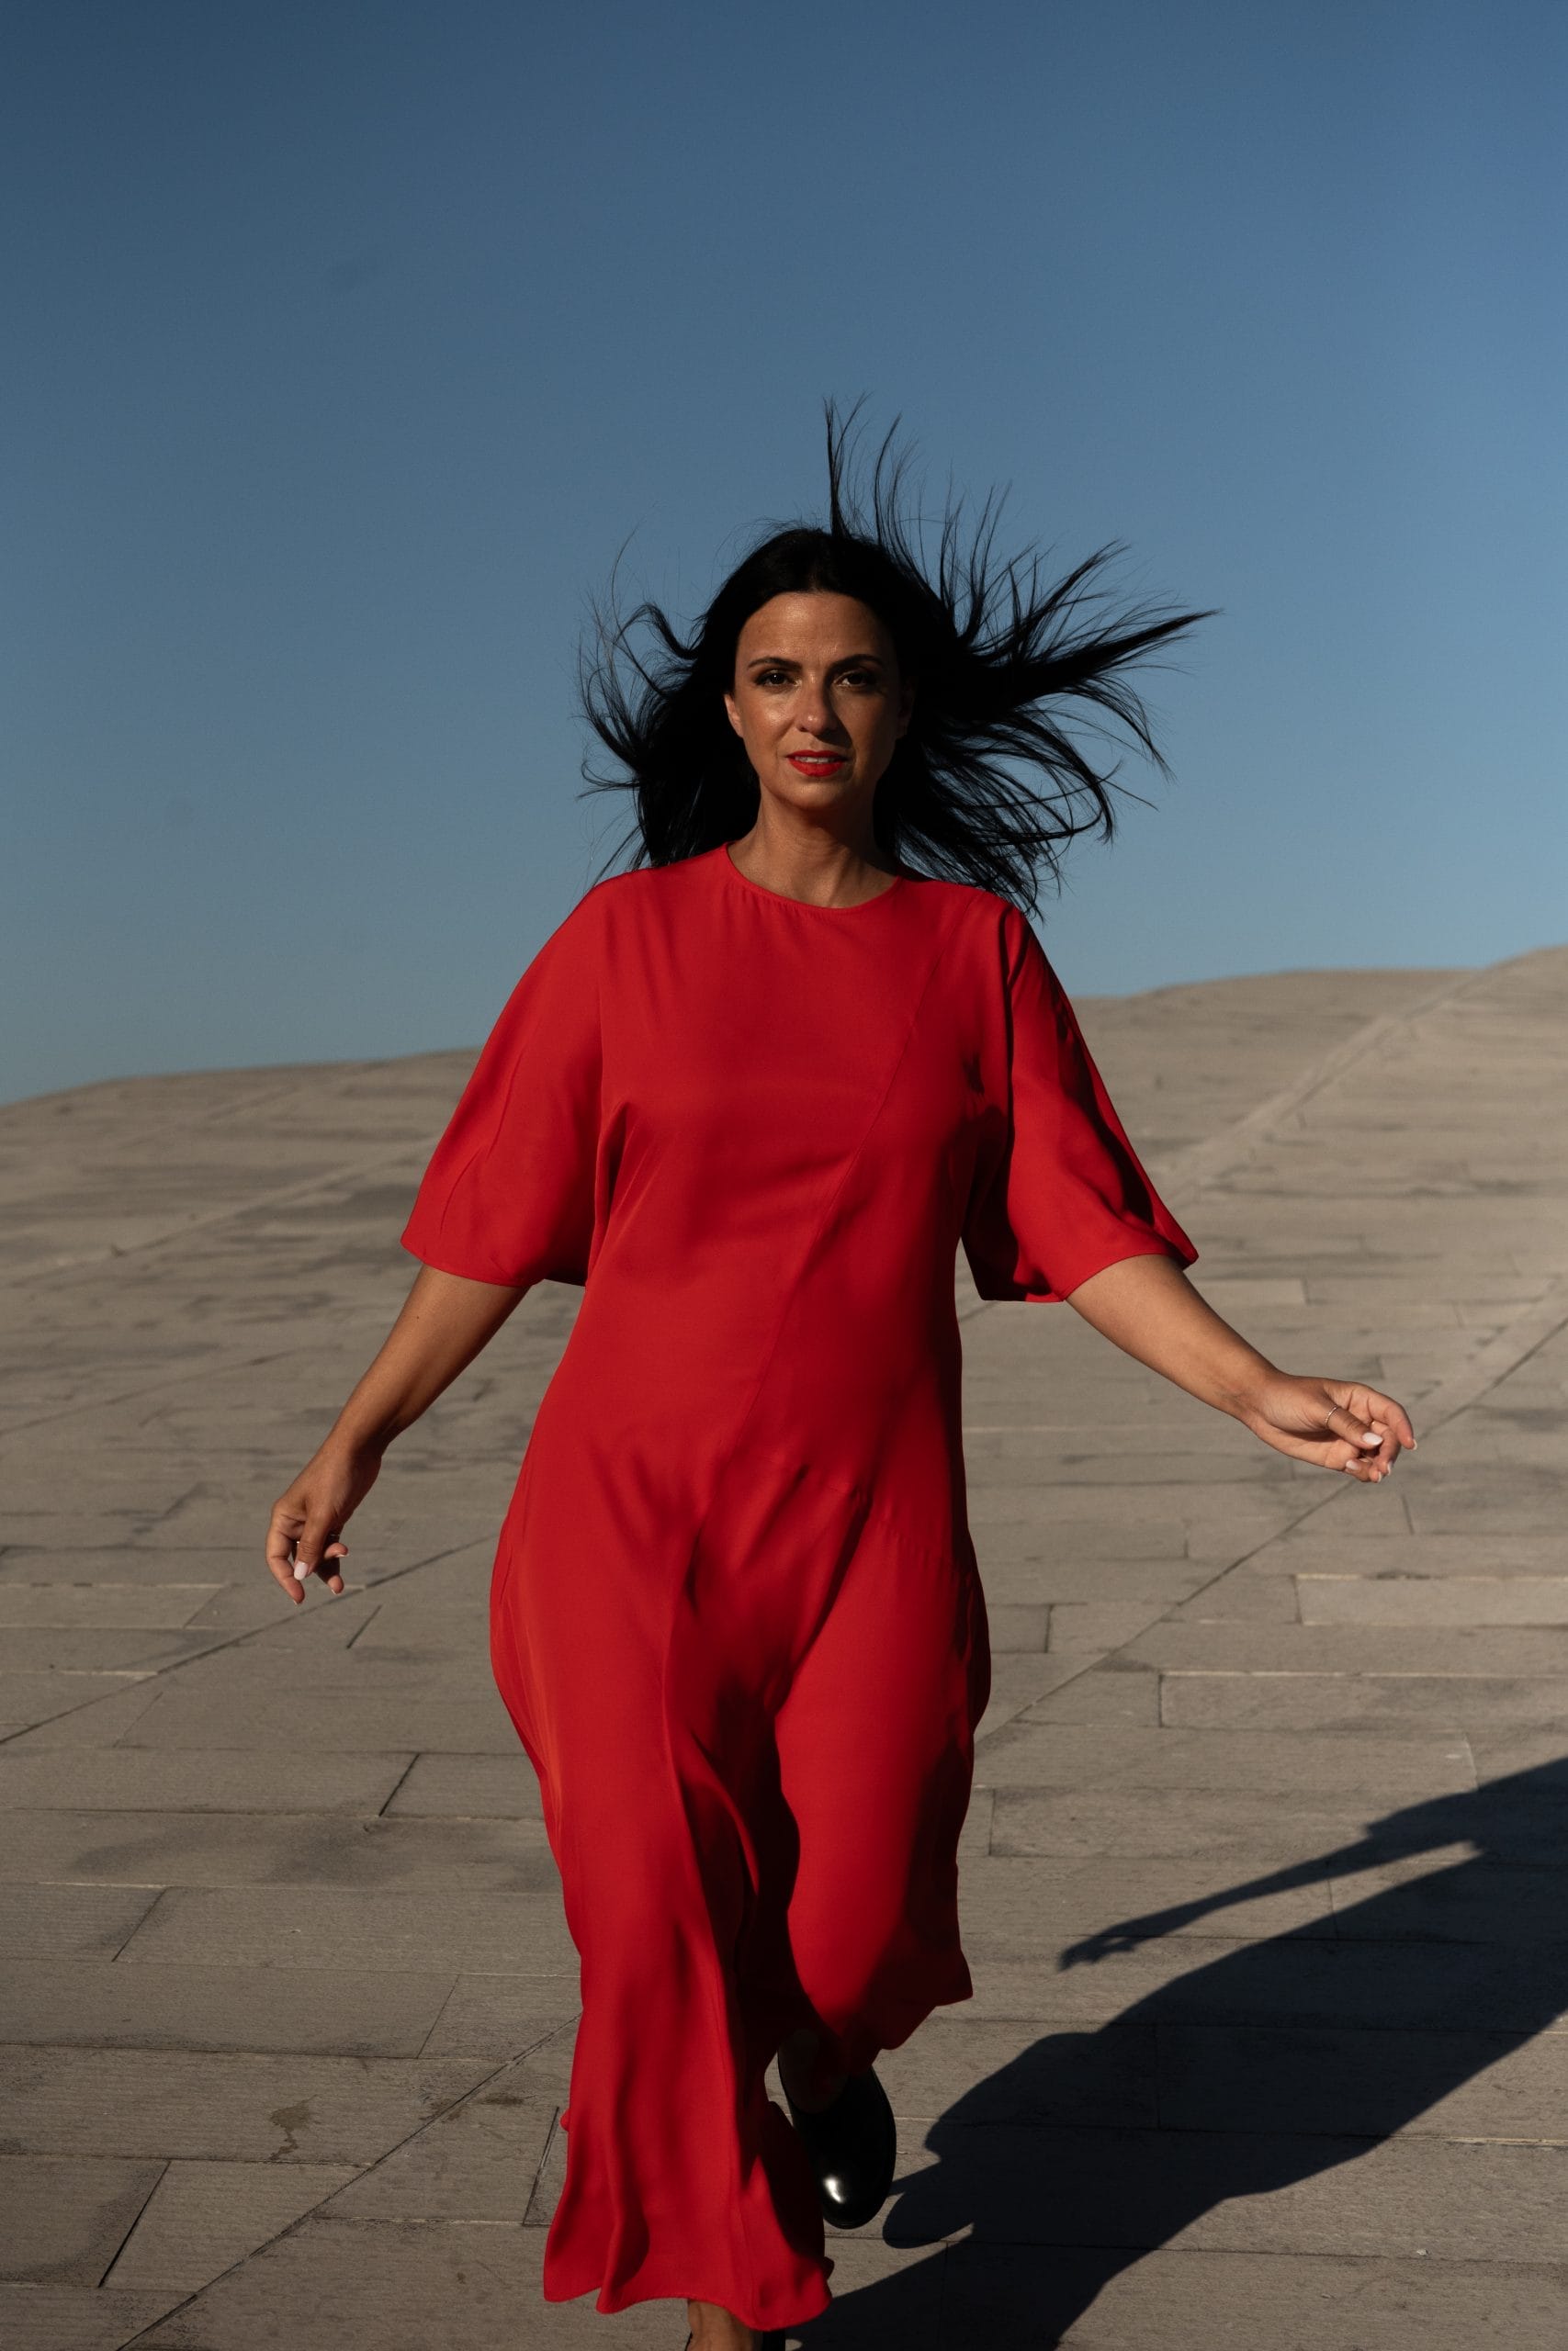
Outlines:
{"label": "clear blue sky above the stone slope", "polygon": [[1074,992],[1568,938],[1556,0],[12,0],[0,1096],[477,1044],[820,402],[1222,607]]}

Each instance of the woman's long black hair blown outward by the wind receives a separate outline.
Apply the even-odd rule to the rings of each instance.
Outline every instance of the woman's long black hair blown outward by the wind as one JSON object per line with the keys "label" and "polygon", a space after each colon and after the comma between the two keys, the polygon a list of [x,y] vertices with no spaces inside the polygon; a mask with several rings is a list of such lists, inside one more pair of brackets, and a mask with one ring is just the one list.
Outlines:
{"label": "woman's long black hair blown outward by the wind", "polygon": [[1126,788],[1103,745],[1121,734],[1168,773],[1128,670],[1211,616],[1117,609],[1105,588],[1117,545],[1053,583],[1034,548],[1001,560],[994,496],[971,529],[964,503],[950,501],[926,562],[924,529],[905,520],[910,458],[896,449],[898,426],[858,498],[853,421],[856,409],[839,421],[827,402],[825,527],[797,522],[755,545],[691,637],[658,604],[621,618],[614,588],[595,609],[581,696],[616,769],[602,773],[590,757],[583,778],[590,792],[630,792],[635,804],[604,870],[628,851],[630,865],[670,865],[750,830],[757,778],[724,710],[736,642],[771,597],[837,590],[879,616],[914,679],[910,729],[872,804],[879,846],[910,872],[973,882],[1034,912],[1041,872],[1060,886],[1067,842],[1114,832],[1112,795]]}

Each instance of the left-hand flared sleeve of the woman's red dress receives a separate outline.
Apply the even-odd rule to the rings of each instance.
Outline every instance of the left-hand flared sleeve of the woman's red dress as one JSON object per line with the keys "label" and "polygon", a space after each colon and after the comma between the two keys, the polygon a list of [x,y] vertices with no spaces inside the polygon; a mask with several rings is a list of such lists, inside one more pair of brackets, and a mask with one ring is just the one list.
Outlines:
{"label": "left-hand flared sleeve of the woman's red dress", "polygon": [[444,1274],[585,1281],[599,1147],[595,891],[543,943],[489,1032],[402,1246]]}

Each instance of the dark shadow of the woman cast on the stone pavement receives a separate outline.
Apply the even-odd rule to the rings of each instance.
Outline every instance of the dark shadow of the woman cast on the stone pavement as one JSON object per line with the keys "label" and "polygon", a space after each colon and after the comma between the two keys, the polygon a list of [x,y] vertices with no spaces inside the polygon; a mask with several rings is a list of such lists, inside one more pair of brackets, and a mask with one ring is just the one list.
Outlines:
{"label": "dark shadow of the woman cast on the stone pavement", "polygon": [[[1044,2034],[966,2090],[929,2130],[933,2161],[905,2172],[884,2226],[884,2243],[914,2259],[863,2288],[846,2259],[839,2297],[802,2342],[1048,2346],[1119,2271],[1204,2215],[1408,2130],[1568,2008],[1566,1831],[1568,1756],[1408,1806],[1356,1843],[1074,1944],[1060,1968],[1201,1918],[1222,1935],[1239,1902],[1392,1874],[1340,1897],[1333,1918],[1201,1961],[1098,2031]],[[1443,1848],[1465,1850],[1413,1867]],[[1453,2135],[1488,2132],[1472,2116]],[[1495,2135],[1528,2137],[1530,2125],[1502,2116]],[[954,2236],[964,2243],[943,2255]],[[1396,2248],[1368,2238],[1345,2250]]]}

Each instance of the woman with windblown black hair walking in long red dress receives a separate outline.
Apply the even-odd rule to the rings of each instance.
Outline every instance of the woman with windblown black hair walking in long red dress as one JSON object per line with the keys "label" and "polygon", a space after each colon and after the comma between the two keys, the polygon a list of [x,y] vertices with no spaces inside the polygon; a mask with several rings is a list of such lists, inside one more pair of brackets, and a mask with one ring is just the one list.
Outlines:
{"label": "woman with windblown black hair walking in long red dress", "polygon": [[[588,712],[639,860],[517,983],[421,1183],[397,1324],[273,1512],[299,1601],[400,1429],[534,1281],[583,1305],[491,1596],[583,1963],[545,2295],[686,2299],[701,2351],[827,2302],[823,2219],[893,2177],[872,2062],[971,1991],[957,1836],[987,1695],[964,1514],[959,1244],[985,1298],[1067,1298],[1265,1444],[1361,1481],[1399,1404],[1276,1371],[1187,1286],[1025,919],[1110,832],[1060,701],[1145,748],[1095,623],[943,529],[933,574],[842,487],[686,644],[611,630]],[[884,449],[886,458],[886,449]],[[778,2055],[788,2118],[764,2074]]]}

